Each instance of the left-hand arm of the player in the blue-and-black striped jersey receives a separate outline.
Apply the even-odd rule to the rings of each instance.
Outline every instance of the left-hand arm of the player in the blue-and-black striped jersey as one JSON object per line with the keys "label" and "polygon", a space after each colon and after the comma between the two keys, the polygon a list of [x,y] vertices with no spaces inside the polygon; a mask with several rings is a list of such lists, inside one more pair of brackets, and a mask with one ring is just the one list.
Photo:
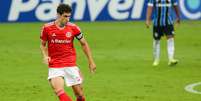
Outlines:
{"label": "left-hand arm of the player in the blue-and-black striped jersey", "polygon": [[147,7],[147,13],[146,13],[146,26],[149,28],[151,25],[151,15],[153,12],[153,0],[149,0],[148,7]]}

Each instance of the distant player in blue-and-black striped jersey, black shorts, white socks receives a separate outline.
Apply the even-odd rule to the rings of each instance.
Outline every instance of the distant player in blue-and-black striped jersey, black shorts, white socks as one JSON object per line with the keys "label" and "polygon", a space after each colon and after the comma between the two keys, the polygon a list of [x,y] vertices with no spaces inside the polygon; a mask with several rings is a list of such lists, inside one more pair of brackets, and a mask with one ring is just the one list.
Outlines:
{"label": "distant player in blue-and-black striped jersey, black shorts, white socks", "polygon": [[153,16],[153,66],[159,64],[160,57],[160,39],[162,36],[167,38],[167,51],[168,51],[168,65],[172,66],[178,63],[174,59],[174,26],[173,18],[171,16],[172,8],[176,13],[176,22],[180,23],[180,14],[178,10],[178,2],[176,0],[149,0],[146,14],[146,26],[149,28],[151,24],[151,15]]}

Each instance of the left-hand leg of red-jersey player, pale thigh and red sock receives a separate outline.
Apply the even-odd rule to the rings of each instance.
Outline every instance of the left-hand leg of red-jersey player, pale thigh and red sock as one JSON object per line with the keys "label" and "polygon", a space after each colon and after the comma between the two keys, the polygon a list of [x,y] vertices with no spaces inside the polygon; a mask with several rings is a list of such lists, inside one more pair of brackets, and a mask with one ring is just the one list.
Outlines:
{"label": "left-hand leg of red-jersey player, pale thigh and red sock", "polygon": [[55,77],[49,80],[52,89],[59,97],[60,101],[72,101],[70,97],[64,91],[64,79],[63,77]]}

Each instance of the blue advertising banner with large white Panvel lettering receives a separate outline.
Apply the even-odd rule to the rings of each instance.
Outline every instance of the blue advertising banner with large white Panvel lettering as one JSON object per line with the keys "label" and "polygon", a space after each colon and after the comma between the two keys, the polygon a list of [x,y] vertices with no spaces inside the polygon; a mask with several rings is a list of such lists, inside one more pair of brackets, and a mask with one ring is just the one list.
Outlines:
{"label": "blue advertising banner with large white Panvel lettering", "polygon": [[[75,21],[144,20],[148,0],[1,0],[0,22],[38,22],[56,18],[56,7],[73,7]],[[179,0],[182,19],[201,20],[201,0]]]}

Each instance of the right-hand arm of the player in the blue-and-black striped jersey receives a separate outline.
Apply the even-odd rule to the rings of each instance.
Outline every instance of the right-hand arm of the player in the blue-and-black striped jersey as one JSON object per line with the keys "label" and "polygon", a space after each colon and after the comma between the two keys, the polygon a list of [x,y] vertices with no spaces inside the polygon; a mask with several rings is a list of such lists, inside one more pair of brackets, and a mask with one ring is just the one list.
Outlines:
{"label": "right-hand arm of the player in the blue-and-black striped jersey", "polygon": [[173,7],[176,13],[176,22],[178,24],[180,24],[180,12],[179,12],[179,7],[178,7],[178,1],[177,0],[173,0]]}

